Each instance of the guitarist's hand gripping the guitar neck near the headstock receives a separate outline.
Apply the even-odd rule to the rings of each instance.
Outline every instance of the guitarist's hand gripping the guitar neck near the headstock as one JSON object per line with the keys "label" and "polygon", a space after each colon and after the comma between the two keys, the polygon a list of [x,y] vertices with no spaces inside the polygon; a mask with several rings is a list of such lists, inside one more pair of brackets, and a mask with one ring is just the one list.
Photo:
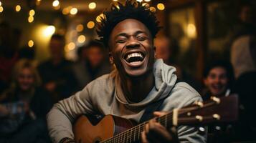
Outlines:
{"label": "guitarist's hand gripping the guitar neck near the headstock", "polygon": [[[155,117],[161,117],[168,112],[153,112]],[[178,135],[176,132],[176,127],[171,127],[171,129],[166,129],[160,123],[156,122],[156,119],[151,119],[144,127],[144,131],[141,132],[141,142],[148,143],[151,142],[179,142]]]}

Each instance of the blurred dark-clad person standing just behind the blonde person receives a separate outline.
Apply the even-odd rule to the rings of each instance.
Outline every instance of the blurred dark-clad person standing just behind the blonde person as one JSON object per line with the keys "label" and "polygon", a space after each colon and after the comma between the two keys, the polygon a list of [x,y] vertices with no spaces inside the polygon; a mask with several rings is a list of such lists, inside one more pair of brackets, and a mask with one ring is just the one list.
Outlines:
{"label": "blurred dark-clad person standing just behind the blonde person", "polygon": [[64,47],[65,37],[59,34],[52,35],[49,41],[51,58],[38,67],[42,84],[52,94],[54,102],[69,97],[77,90],[72,61],[65,59]]}

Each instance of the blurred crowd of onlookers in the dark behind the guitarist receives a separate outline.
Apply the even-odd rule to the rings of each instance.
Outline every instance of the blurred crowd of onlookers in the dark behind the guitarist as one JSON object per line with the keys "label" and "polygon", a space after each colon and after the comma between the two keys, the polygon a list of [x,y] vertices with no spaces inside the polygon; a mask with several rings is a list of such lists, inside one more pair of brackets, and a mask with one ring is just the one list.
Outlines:
{"label": "blurred crowd of onlookers in the dark behind the guitarist", "polygon": [[[202,81],[189,75],[179,62],[175,39],[158,36],[156,58],[176,67],[176,74],[188,82],[204,100],[238,94],[240,121],[209,127],[209,142],[255,139],[256,34],[250,6],[241,9],[230,39],[230,60],[212,59],[205,65]],[[39,63],[35,49],[19,48],[22,32],[6,22],[0,24],[0,142],[49,142],[45,116],[52,105],[80,91],[93,79],[115,67],[108,50],[98,41],[88,41],[77,49],[77,61],[65,59],[65,36],[54,34],[49,41],[50,59]],[[104,93],[103,93],[104,94]],[[215,131],[216,130],[216,131]],[[219,140],[218,140],[219,139]],[[221,141],[220,141],[221,140]],[[255,139],[256,140],[256,139]]]}

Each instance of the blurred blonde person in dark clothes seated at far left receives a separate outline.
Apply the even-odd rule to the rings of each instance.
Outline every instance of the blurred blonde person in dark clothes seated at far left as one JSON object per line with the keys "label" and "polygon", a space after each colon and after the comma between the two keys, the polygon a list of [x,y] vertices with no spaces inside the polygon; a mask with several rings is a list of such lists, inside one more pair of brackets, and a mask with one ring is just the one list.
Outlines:
{"label": "blurred blonde person in dark clothes seated at far left", "polygon": [[39,85],[39,74],[32,61],[18,61],[11,87],[0,96],[1,143],[49,142],[45,116],[52,102]]}

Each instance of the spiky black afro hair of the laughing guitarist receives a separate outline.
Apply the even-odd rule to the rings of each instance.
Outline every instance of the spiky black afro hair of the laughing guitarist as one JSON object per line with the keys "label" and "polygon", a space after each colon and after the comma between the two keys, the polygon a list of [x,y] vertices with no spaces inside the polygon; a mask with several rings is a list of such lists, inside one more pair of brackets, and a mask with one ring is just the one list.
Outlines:
{"label": "spiky black afro hair of the laughing guitarist", "polygon": [[120,21],[125,19],[136,19],[145,24],[151,32],[152,38],[156,37],[157,32],[161,28],[158,26],[159,21],[156,15],[149,9],[147,5],[143,6],[138,1],[127,0],[125,4],[111,4],[110,9],[103,12],[104,16],[100,17],[101,22],[98,24],[96,32],[99,40],[108,47],[108,39],[111,31]]}

